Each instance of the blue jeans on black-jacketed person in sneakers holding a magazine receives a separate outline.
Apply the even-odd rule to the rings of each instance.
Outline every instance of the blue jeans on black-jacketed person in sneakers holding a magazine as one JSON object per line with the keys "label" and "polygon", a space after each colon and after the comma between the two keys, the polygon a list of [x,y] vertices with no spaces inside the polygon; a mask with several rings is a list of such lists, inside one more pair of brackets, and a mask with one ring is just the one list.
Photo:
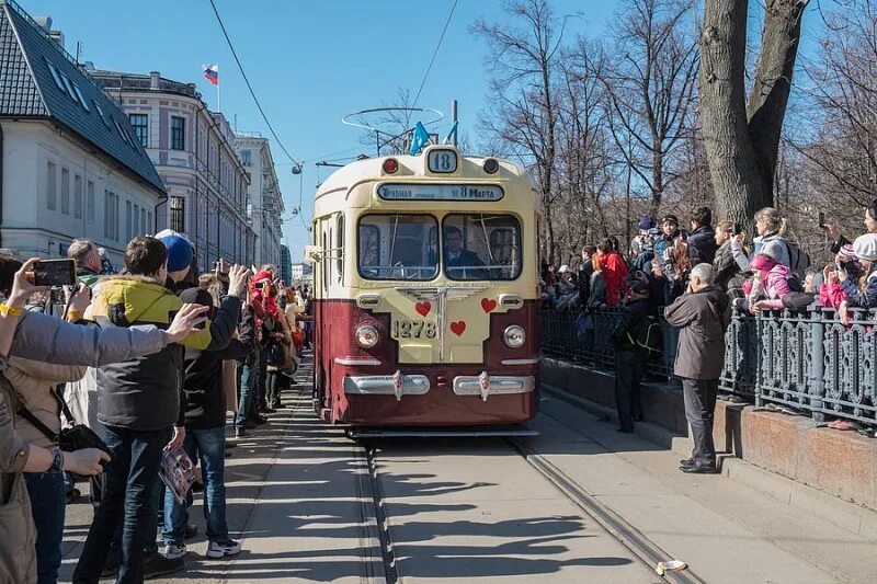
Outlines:
{"label": "blue jeans on black-jacketed person in sneakers holding a magazine", "polygon": [[[204,518],[207,539],[228,541],[226,523],[226,428],[186,430],[183,449],[195,461],[201,456],[204,476]],[[164,543],[182,546],[185,541],[186,505],[178,503],[168,491],[164,495]]]}

